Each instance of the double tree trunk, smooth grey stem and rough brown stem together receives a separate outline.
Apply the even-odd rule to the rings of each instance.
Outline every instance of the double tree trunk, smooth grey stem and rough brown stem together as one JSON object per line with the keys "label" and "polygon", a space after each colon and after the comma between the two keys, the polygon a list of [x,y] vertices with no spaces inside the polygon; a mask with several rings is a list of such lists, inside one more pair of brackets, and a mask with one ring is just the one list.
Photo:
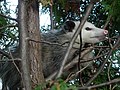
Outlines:
{"label": "double tree trunk, smooth grey stem and rough brown stem together", "polygon": [[37,0],[19,0],[19,29],[23,86],[25,90],[31,90],[44,82],[41,45],[30,41],[40,41]]}

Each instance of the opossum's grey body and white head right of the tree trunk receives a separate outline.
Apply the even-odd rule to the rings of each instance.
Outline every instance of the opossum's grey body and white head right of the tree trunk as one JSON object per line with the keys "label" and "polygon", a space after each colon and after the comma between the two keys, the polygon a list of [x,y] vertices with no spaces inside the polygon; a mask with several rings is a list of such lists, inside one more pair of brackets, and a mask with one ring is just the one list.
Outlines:
{"label": "opossum's grey body and white head right of the tree trunk", "polygon": [[[50,31],[48,33],[42,34],[42,38],[45,41],[51,43],[59,43],[60,45],[48,45],[42,44],[42,57],[43,57],[43,72],[45,77],[52,74],[54,71],[60,68],[61,62],[66,52],[65,46],[68,46],[68,42],[70,42],[73,37],[75,31],[77,30],[79,21],[67,21],[65,22],[63,29],[60,31]],[[92,23],[86,22],[82,28],[82,43],[97,43],[105,39],[107,30],[100,29],[95,27]],[[62,46],[63,45],[63,46]],[[80,38],[76,39],[73,47],[79,48]],[[70,62],[76,52],[76,49],[72,49],[69,55],[67,62]],[[91,58],[93,55],[89,53],[83,57],[83,59]]]}

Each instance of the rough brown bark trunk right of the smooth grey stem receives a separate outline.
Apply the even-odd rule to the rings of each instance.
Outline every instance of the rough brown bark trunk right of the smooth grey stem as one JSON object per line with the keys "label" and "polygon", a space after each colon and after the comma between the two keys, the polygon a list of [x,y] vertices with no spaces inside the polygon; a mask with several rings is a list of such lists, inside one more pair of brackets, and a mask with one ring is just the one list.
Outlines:
{"label": "rough brown bark trunk right of the smooth grey stem", "polygon": [[[28,6],[28,32],[29,38],[40,41],[39,30],[39,6],[36,0]],[[32,76],[32,86],[36,86],[44,82],[41,65],[41,44],[29,41],[29,60],[30,60],[30,73]]]}

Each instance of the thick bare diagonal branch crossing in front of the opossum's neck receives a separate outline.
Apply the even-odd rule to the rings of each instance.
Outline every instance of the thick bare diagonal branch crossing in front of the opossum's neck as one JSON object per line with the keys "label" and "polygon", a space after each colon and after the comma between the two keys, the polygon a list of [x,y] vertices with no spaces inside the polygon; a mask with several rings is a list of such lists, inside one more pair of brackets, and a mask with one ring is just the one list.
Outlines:
{"label": "thick bare diagonal branch crossing in front of the opossum's neck", "polygon": [[72,48],[72,46],[73,46],[73,43],[74,43],[74,41],[76,40],[76,38],[77,38],[78,34],[80,33],[80,31],[82,30],[82,27],[83,27],[84,23],[86,22],[87,17],[89,16],[89,14],[90,14],[90,12],[91,12],[94,3],[95,3],[95,2],[92,2],[92,1],[91,1],[90,5],[89,5],[88,8],[87,8],[87,12],[86,12],[83,20],[81,21],[81,23],[80,23],[80,25],[78,26],[76,32],[74,33],[74,35],[73,35],[73,37],[72,37],[72,39],[71,39],[71,41],[70,41],[70,44],[69,44],[69,46],[68,46],[68,48],[67,48],[66,54],[65,54],[64,59],[63,59],[63,61],[62,61],[62,65],[61,65],[61,67],[60,67],[60,70],[59,70],[58,75],[57,75],[56,78],[59,78],[59,77],[61,76],[61,74],[62,74],[62,72],[63,72],[63,69],[64,69],[64,65],[65,65],[65,63],[66,63],[66,61],[67,61],[68,55],[69,55],[70,50],[71,50],[71,48]]}

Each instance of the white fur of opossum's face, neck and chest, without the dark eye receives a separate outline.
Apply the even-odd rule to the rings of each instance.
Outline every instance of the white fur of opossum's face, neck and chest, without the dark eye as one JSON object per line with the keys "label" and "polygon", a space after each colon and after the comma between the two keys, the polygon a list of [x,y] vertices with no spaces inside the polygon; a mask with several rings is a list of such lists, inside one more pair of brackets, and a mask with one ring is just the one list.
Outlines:
{"label": "white fur of opossum's face, neck and chest, without the dark eye", "polygon": [[[75,32],[75,30],[77,30],[78,26],[79,26],[80,22],[77,21],[75,22],[75,28],[73,30],[73,32]],[[86,30],[86,27],[89,27],[91,28],[91,30],[87,31]],[[107,30],[104,30],[104,29],[100,29],[100,28],[97,28],[95,27],[92,23],[90,22],[86,22],[82,28],[82,43],[98,43],[102,40],[105,39],[106,37],[106,34],[108,34],[108,31]],[[76,41],[80,41],[80,38],[78,36],[78,38],[76,39]],[[74,47],[76,47],[78,45],[74,45]],[[83,51],[84,52],[84,51]],[[87,53],[83,59],[84,60],[88,60],[90,58],[93,58],[94,57],[94,54],[93,52],[89,52]],[[86,66],[86,65],[89,65],[89,67],[91,68],[91,70],[93,69],[93,66],[92,66],[92,61],[90,62],[86,62],[84,64],[82,64],[82,66]]]}

